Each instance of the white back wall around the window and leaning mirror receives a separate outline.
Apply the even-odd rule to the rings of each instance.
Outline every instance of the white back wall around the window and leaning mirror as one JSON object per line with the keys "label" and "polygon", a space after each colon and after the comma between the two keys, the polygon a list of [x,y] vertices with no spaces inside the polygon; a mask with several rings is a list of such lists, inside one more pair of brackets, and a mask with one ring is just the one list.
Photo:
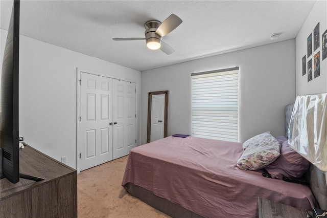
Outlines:
{"label": "white back wall around the window and leaning mirror", "polygon": [[294,39],[142,72],[142,143],[148,92],[169,90],[168,135],[191,135],[191,73],[231,67],[240,67],[239,141],[284,135],[284,107],[295,100]]}

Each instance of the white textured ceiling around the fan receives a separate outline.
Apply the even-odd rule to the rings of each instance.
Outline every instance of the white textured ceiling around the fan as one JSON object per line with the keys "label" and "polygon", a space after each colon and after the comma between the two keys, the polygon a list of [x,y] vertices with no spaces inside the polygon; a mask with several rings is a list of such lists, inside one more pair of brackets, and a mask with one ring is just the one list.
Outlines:
{"label": "white textured ceiling around the fan", "polygon": [[[295,38],[315,1],[21,1],[20,34],[138,71]],[[7,30],[12,1],[1,0]],[[183,23],[162,40],[175,52],[146,47],[148,20]],[[274,33],[282,33],[270,40]]]}

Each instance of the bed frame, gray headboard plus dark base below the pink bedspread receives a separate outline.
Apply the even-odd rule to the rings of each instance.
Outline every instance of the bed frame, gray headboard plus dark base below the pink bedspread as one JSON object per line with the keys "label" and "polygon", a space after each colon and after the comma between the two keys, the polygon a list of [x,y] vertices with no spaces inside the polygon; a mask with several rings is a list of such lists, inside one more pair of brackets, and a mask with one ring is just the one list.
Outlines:
{"label": "bed frame, gray headboard plus dark base below the pink bedspread", "polygon": [[[288,126],[293,111],[294,104],[289,104],[285,107],[285,134],[288,135]],[[318,169],[313,164],[310,165],[310,169],[304,176],[310,183],[310,188],[316,198],[317,207],[323,210],[327,210],[327,184],[325,172]],[[173,217],[188,217],[188,218],[200,218],[203,217],[197,213],[194,213],[188,209],[181,207],[178,204],[174,204],[166,199],[162,199],[154,195],[151,191],[144,189],[140,186],[136,186],[132,183],[128,183],[125,186],[127,192],[134,197],[142,200],[151,207],[154,207]]]}

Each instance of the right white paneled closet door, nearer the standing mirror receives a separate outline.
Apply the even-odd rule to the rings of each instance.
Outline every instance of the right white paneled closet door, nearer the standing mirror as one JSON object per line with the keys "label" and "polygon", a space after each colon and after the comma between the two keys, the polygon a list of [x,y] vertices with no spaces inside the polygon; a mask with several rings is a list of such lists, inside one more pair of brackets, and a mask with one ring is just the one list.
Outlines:
{"label": "right white paneled closet door, nearer the standing mirror", "polygon": [[136,146],[135,83],[113,79],[113,159]]}

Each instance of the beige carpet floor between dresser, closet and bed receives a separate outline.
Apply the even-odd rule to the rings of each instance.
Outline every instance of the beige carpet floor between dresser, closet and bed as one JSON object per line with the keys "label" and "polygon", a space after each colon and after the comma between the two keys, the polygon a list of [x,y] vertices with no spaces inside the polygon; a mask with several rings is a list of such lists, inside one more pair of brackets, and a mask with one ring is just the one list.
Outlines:
{"label": "beige carpet floor between dresser, closet and bed", "polygon": [[170,217],[132,197],[121,186],[128,156],[77,175],[78,217]]}

